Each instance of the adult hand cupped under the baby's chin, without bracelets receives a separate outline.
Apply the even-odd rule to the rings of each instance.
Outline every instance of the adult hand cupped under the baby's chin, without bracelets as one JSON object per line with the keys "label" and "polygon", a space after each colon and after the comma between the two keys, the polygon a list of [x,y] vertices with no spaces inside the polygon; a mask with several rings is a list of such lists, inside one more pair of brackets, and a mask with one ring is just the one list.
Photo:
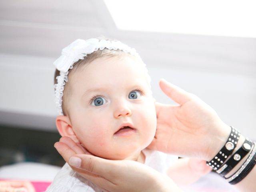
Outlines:
{"label": "adult hand cupped under the baby's chin, without bracelets", "polygon": [[54,147],[78,174],[105,192],[179,192],[166,175],[131,160],[106,160],[84,154],[72,139],[63,137]]}

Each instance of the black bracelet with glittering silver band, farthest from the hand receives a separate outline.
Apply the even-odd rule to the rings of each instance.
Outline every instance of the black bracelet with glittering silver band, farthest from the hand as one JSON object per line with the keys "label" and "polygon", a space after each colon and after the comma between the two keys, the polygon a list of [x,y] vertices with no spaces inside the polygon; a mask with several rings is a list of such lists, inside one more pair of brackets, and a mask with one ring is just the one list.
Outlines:
{"label": "black bracelet with glittering silver band, farthest from the hand", "polygon": [[[249,157],[246,159],[244,164],[229,178],[226,178],[226,181],[230,184],[236,184],[240,182],[243,178],[245,178],[248,173],[252,170],[255,165],[256,161],[256,142],[254,142],[254,146],[252,152],[250,153]],[[240,179],[236,179],[237,177],[241,177]]]}

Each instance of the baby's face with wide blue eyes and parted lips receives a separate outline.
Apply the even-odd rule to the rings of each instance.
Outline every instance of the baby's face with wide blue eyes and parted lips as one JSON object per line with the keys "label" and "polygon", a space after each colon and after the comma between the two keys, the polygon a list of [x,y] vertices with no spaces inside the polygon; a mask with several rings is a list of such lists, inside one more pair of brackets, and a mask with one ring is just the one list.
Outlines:
{"label": "baby's face with wide blue eyes and parted lips", "polygon": [[155,103],[136,58],[98,58],[72,74],[71,86],[70,121],[89,152],[125,159],[153,140]]}

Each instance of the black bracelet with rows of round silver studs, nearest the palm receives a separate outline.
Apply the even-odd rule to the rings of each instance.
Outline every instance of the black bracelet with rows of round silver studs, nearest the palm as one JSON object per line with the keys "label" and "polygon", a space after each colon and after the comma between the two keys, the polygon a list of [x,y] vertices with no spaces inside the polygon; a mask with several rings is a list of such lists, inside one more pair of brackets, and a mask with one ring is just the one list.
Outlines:
{"label": "black bracelet with rows of round silver studs, nearest the palm", "polygon": [[232,154],[234,148],[236,148],[236,144],[240,138],[240,132],[236,130],[233,126],[231,127],[230,135],[228,136],[228,140],[226,144],[221,148],[221,150],[216,154],[216,156],[210,160],[210,162],[206,162],[208,166],[211,166],[213,170],[218,170],[221,165],[226,161],[228,156]]}

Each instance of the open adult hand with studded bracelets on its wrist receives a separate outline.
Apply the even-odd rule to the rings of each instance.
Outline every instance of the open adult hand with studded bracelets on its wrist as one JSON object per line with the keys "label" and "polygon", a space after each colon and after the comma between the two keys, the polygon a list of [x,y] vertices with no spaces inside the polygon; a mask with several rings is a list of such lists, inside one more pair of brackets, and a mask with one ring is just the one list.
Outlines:
{"label": "open adult hand with studded bracelets on its wrist", "polygon": [[231,128],[194,94],[165,80],[160,80],[160,88],[178,105],[156,104],[156,135],[148,148],[211,160],[226,142]]}

